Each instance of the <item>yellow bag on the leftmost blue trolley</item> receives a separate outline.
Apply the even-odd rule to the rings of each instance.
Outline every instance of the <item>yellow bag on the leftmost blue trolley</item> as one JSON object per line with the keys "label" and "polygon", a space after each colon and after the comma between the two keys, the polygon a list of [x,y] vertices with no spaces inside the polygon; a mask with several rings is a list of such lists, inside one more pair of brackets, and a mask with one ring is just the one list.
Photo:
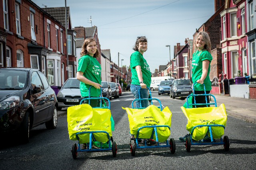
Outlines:
{"label": "yellow bag on the leftmost blue trolley", "polygon": [[[110,109],[92,108],[88,104],[68,107],[68,134],[70,140],[77,140],[76,133],[106,131],[112,136]],[[96,141],[108,142],[106,133],[93,133]],[[89,133],[79,134],[80,143],[89,143]]]}

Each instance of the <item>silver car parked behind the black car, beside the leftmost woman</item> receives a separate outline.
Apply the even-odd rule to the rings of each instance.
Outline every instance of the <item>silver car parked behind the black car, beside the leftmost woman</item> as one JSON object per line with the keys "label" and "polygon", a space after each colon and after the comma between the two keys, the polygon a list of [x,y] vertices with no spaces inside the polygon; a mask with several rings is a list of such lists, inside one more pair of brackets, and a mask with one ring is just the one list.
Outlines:
{"label": "silver car parked behind the black car, beside the leftmost woman", "polygon": [[80,81],[77,78],[69,78],[57,94],[58,110],[62,107],[79,105],[82,99]]}

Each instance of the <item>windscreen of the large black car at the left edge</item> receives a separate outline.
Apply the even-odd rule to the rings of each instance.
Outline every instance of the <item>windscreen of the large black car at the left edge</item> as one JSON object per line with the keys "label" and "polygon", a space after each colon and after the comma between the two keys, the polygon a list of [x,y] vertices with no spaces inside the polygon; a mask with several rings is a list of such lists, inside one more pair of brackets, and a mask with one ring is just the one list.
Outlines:
{"label": "windscreen of the large black car at the left edge", "polygon": [[0,90],[20,90],[28,84],[28,71],[0,69]]}

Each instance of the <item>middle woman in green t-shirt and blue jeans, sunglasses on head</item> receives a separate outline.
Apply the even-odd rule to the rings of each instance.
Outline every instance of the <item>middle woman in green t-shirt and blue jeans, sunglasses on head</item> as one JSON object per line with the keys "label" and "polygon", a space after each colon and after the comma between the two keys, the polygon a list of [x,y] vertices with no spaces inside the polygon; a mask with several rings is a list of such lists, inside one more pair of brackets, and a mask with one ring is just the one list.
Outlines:
{"label": "middle woman in green t-shirt and blue jeans, sunglasses on head", "polygon": [[[146,37],[137,37],[132,53],[130,57],[130,67],[132,72],[132,83],[130,90],[135,99],[148,98],[148,88],[151,83],[151,72],[147,61],[144,59],[143,54],[148,49],[148,40]],[[140,89],[140,97],[138,90]],[[141,100],[142,107],[148,107],[148,100]],[[136,108],[140,107],[140,101],[136,101]],[[134,135],[131,134],[131,138],[134,139]],[[146,140],[147,145],[156,145],[156,141],[152,139]]]}

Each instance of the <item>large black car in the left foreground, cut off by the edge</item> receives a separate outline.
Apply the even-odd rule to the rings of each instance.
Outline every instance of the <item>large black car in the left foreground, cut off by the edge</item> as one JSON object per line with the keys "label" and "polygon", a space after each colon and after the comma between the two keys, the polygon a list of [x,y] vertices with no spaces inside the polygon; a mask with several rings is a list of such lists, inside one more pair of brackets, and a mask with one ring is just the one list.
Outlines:
{"label": "large black car in the left foreground, cut off by the edge", "polygon": [[45,123],[57,127],[58,102],[40,71],[32,68],[0,68],[0,133],[18,133],[17,142],[29,141],[30,129]]}

